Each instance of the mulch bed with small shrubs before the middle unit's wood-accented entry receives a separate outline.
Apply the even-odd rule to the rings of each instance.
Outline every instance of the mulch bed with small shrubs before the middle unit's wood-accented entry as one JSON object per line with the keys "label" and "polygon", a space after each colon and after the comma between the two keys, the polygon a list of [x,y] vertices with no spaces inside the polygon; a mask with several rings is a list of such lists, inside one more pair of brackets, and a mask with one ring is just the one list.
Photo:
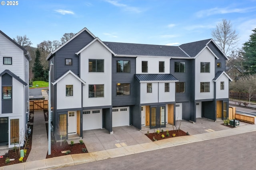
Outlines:
{"label": "mulch bed with small shrubs before the middle unit's wood-accented entry", "polygon": [[[182,131],[182,130],[169,130],[169,134],[170,136],[166,135],[166,131],[164,132],[160,132],[159,134],[155,133],[149,133],[149,134],[145,134],[146,136],[148,136],[148,138],[150,138],[150,140],[152,140],[153,142],[156,140],[162,140],[162,139],[166,139],[166,138],[173,138],[172,134],[175,133],[175,137],[177,136],[186,136],[189,135],[186,132]],[[164,138],[162,138],[162,134],[164,134]],[[155,138],[156,140],[154,140],[153,138]]]}

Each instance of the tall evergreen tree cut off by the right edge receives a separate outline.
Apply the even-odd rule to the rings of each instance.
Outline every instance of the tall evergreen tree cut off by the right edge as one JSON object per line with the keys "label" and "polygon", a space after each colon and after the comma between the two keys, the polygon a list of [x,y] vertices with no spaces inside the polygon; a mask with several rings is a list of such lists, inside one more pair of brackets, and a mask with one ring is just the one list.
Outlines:
{"label": "tall evergreen tree cut off by the right edge", "polygon": [[243,44],[244,65],[248,72],[256,73],[256,29],[252,32],[249,41]]}

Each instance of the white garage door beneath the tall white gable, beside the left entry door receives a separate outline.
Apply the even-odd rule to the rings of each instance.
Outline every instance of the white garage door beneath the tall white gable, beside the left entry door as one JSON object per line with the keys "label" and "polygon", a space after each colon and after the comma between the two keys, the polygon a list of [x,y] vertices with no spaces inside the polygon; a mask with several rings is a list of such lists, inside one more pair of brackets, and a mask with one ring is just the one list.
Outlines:
{"label": "white garage door beneath the tall white gable, beside the left entry door", "polygon": [[83,130],[102,128],[102,109],[83,111]]}

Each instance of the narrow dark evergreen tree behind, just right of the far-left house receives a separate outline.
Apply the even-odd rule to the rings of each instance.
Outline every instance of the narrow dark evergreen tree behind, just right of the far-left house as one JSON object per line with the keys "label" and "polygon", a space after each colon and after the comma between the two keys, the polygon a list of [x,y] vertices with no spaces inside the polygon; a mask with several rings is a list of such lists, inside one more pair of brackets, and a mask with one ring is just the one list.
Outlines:
{"label": "narrow dark evergreen tree behind, just right of the far-left house", "polygon": [[41,57],[40,51],[36,49],[36,58],[35,58],[34,66],[32,69],[32,72],[34,74],[34,79],[44,77],[44,69],[41,64],[40,57]]}

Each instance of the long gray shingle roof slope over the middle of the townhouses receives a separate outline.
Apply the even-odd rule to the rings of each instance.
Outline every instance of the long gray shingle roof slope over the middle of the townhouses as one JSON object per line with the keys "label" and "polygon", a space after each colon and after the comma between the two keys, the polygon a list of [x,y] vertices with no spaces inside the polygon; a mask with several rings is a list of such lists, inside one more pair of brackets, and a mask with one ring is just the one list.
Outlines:
{"label": "long gray shingle roof slope over the middle of the townhouses", "polygon": [[103,42],[117,55],[189,57],[177,46]]}

